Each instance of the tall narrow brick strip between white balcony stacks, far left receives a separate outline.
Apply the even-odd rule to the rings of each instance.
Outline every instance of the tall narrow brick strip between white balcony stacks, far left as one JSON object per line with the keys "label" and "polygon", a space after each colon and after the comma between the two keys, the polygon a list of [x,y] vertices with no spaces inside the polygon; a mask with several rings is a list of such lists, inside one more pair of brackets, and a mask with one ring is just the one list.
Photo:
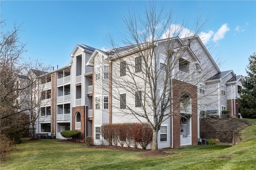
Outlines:
{"label": "tall narrow brick strip between white balcony stacks, far left", "polygon": [[54,135],[56,136],[56,131],[55,131],[55,124],[56,124],[56,77],[57,77],[57,73],[53,73],[51,75],[51,83],[52,83],[52,88],[51,88],[51,133],[54,133]]}

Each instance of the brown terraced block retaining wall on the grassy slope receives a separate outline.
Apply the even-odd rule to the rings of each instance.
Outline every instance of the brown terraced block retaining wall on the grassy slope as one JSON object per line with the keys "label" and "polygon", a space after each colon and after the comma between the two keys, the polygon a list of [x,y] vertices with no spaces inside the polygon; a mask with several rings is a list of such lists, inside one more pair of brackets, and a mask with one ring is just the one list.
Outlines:
{"label": "brown terraced block retaining wall on the grassy slope", "polygon": [[248,125],[252,124],[236,117],[200,119],[200,138],[219,139],[220,143],[232,143],[234,146],[240,142],[239,131]]}

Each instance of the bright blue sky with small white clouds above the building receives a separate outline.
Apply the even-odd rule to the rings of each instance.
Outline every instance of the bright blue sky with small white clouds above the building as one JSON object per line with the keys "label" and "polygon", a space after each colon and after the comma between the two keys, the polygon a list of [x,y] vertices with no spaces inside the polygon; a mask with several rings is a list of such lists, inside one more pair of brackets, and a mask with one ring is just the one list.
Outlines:
{"label": "bright blue sky with small white clouds above the building", "polygon": [[[39,59],[56,68],[67,65],[75,46],[108,48],[108,32],[120,40],[122,17],[128,7],[140,15],[147,1],[2,1],[1,20],[6,29],[22,23],[20,41],[25,58]],[[256,1],[156,1],[174,9],[177,23],[193,23],[201,14],[210,16],[203,42],[220,70],[246,75],[248,58],[256,51]],[[186,29],[189,29],[186,27]],[[200,34],[202,34],[200,33]]]}

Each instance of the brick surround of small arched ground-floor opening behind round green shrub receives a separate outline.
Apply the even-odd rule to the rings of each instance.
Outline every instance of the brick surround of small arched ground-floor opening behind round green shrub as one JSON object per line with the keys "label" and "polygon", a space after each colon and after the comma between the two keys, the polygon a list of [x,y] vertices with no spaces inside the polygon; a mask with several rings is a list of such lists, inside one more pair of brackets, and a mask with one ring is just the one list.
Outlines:
{"label": "brick surround of small arched ground-floor opening behind round green shrub", "polygon": [[[81,132],[80,141],[84,141],[85,137],[85,123],[86,123],[86,107],[85,106],[76,106],[72,107],[72,130],[77,130]],[[76,113],[80,113],[81,118],[81,129],[76,129]]]}

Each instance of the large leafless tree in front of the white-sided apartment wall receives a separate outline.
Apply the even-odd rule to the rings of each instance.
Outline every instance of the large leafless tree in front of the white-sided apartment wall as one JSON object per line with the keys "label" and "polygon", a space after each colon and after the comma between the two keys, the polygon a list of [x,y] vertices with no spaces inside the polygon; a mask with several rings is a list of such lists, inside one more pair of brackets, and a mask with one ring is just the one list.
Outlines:
{"label": "large leafless tree in front of the white-sided apartment wall", "polygon": [[194,31],[189,31],[185,23],[172,24],[172,18],[172,10],[164,14],[155,4],[145,8],[144,16],[132,12],[124,16],[126,47],[116,47],[110,38],[110,87],[95,86],[110,92],[113,115],[150,125],[152,150],[158,149],[164,121],[191,115],[197,119],[198,83],[217,72],[212,71],[214,62],[204,59],[202,48],[195,45],[207,20],[198,17]]}

